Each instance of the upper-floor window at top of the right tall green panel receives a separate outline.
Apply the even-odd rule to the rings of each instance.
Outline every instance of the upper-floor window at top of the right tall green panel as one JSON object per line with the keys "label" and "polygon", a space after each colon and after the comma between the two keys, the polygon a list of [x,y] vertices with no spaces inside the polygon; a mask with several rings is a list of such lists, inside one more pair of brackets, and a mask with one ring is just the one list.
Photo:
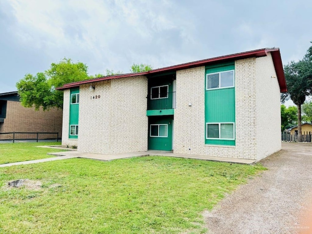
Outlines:
{"label": "upper-floor window at top of the right tall green panel", "polygon": [[207,74],[206,89],[234,87],[234,70]]}

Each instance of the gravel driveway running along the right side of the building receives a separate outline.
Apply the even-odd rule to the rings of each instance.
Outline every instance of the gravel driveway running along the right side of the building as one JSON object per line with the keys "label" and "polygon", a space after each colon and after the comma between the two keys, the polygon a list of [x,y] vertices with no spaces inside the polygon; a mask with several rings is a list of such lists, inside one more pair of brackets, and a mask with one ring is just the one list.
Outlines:
{"label": "gravel driveway running along the right side of the building", "polygon": [[203,214],[208,234],[312,234],[312,143],[282,143],[260,162],[267,171]]}

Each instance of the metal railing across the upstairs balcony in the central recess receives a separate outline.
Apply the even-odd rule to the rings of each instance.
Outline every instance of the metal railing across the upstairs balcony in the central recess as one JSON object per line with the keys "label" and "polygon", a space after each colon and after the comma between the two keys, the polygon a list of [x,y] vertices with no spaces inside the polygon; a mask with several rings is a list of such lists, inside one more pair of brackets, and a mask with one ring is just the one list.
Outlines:
{"label": "metal railing across the upstairs balcony in the central recess", "polygon": [[[162,96],[165,96],[162,94]],[[159,95],[159,97],[161,97]],[[152,98],[151,94],[147,96],[147,110],[165,110],[176,108],[176,92],[167,93],[164,98]]]}

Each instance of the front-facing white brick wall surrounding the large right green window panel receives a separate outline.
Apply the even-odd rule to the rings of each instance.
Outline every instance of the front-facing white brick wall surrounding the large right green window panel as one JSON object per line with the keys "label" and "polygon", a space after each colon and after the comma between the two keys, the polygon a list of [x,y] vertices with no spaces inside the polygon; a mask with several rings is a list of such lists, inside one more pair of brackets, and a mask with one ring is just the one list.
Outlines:
{"label": "front-facing white brick wall surrounding the large right green window panel", "polygon": [[235,61],[235,146],[205,144],[204,84],[204,66],[176,73],[174,152],[256,159],[255,58]]}

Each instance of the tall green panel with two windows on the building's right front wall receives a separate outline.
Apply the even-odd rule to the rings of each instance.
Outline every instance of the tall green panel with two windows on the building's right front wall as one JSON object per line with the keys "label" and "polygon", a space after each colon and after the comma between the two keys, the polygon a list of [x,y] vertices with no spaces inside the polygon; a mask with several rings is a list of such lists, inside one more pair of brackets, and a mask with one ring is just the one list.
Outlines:
{"label": "tall green panel with two windows on the building's right front wall", "polygon": [[206,144],[235,145],[234,70],[234,61],[206,66]]}

